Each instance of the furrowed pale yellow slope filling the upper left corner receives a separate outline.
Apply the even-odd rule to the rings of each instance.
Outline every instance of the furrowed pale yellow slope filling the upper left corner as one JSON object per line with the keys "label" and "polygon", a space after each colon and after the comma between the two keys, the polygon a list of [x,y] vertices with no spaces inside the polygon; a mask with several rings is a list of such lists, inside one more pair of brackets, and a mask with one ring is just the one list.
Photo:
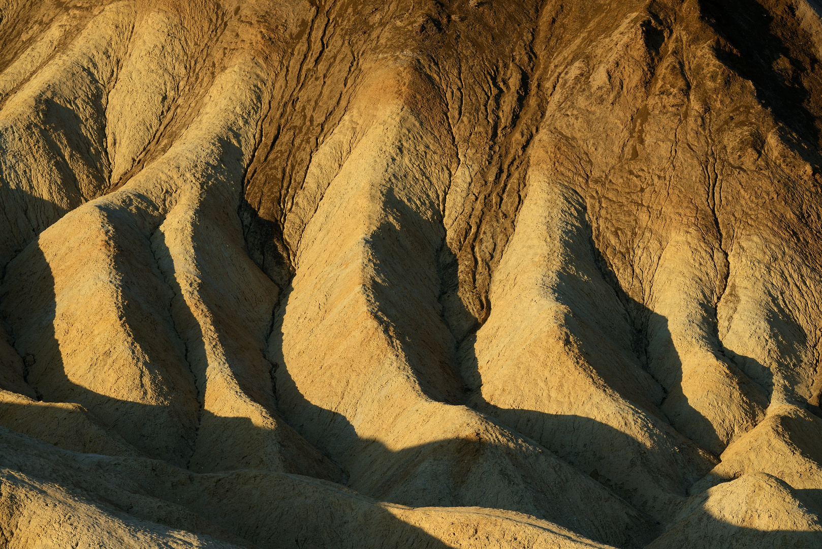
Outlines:
{"label": "furrowed pale yellow slope filling the upper left corner", "polygon": [[130,2],[113,2],[0,104],[3,265],[107,188],[105,109],[133,17]]}

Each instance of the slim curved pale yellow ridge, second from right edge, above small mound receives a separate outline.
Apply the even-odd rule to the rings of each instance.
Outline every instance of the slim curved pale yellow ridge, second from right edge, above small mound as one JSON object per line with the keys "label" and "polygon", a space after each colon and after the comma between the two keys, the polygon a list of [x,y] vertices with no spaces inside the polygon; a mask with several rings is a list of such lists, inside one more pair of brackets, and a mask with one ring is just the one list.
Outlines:
{"label": "slim curved pale yellow ridge, second from right edge, above small mound", "polygon": [[[690,238],[689,238],[690,236]],[[668,242],[653,278],[649,369],[667,389],[663,411],[683,435],[722,454],[764,416],[767,397],[721,351],[713,321],[721,252],[696,235]],[[714,267],[716,266],[716,267]]]}

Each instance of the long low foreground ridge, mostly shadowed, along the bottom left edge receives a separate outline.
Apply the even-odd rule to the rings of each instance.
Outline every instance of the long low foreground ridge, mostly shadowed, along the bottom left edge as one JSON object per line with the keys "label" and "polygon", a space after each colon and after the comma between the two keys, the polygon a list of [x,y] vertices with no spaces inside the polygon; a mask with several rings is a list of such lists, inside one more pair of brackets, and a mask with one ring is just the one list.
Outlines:
{"label": "long low foreground ridge, mostly shadowed, along the bottom left edge", "polygon": [[0,532],[11,547],[610,547],[522,514],[382,504],[310,477],[196,474],[75,454],[4,429],[0,447]]}

